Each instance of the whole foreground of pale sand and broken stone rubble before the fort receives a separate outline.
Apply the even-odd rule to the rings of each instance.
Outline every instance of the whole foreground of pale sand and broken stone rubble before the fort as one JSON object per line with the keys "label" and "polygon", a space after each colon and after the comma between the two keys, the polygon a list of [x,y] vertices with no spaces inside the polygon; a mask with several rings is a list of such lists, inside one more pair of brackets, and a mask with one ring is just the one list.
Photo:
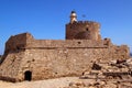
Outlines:
{"label": "whole foreground of pale sand and broken stone rubble before the fort", "polygon": [[132,58],[94,63],[90,72],[80,77],[7,82],[0,88],[132,88]]}

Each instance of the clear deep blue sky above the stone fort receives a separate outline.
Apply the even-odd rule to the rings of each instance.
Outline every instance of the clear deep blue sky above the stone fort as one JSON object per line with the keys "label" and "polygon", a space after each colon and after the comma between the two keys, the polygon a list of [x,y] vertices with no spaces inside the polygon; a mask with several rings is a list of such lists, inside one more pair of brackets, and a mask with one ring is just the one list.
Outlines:
{"label": "clear deep blue sky above the stone fort", "polygon": [[132,48],[132,0],[0,0],[0,54],[11,35],[23,32],[35,38],[65,40],[72,10],[78,20],[99,22],[102,38]]}

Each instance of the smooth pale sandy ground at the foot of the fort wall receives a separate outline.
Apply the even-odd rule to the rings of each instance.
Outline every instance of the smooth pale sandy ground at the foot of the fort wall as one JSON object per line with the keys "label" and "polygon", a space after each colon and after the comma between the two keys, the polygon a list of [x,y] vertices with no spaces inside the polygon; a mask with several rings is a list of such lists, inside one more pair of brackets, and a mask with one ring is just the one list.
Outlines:
{"label": "smooth pale sandy ground at the foot of the fort wall", "polygon": [[69,82],[79,80],[78,77],[64,77],[37,81],[7,82],[0,80],[0,88],[62,88]]}

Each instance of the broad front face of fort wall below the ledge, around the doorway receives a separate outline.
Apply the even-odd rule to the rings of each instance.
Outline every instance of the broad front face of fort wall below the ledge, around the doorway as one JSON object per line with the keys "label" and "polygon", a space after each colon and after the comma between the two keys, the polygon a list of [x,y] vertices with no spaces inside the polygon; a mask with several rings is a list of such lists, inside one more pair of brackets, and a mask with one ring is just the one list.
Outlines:
{"label": "broad front face of fort wall below the ledge, around the doorway", "polygon": [[21,63],[19,77],[24,77],[26,70],[32,72],[32,78],[45,79],[62,76],[79,76],[90,70],[94,62],[109,57],[108,48],[55,48],[25,51]]}

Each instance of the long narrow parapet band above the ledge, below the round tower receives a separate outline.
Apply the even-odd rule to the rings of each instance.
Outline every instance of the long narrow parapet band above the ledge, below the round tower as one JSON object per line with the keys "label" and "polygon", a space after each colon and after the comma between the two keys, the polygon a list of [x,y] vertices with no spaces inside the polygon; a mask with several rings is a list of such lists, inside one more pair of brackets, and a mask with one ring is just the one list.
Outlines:
{"label": "long narrow parapet band above the ledge, below the round tower", "polygon": [[43,47],[108,47],[108,45],[103,44],[103,41],[91,41],[91,40],[34,40],[30,41],[26,44],[26,48],[43,48]]}

